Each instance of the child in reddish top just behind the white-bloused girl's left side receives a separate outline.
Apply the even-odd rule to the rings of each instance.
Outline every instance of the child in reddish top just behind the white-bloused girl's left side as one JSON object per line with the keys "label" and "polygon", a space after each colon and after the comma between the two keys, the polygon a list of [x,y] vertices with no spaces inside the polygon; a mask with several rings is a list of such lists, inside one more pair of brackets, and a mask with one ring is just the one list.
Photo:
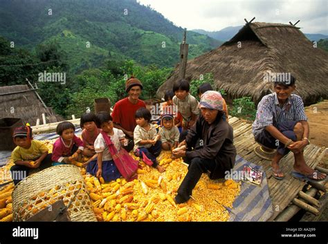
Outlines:
{"label": "child in reddish top just behind the white-bloused girl's left side", "polygon": [[96,117],[94,113],[84,113],[81,116],[80,126],[82,131],[83,140],[83,155],[90,158],[95,155],[95,139],[100,133],[100,129],[97,128]]}

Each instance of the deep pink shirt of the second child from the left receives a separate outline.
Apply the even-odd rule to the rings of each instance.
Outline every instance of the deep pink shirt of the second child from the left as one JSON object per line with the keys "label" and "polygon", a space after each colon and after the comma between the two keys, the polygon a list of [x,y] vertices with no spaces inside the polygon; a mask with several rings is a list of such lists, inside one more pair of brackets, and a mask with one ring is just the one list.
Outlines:
{"label": "deep pink shirt of the second child from the left", "polygon": [[60,138],[58,138],[53,144],[53,156],[51,157],[51,160],[53,160],[53,162],[62,162],[64,157],[71,156],[71,151],[74,144],[78,146],[78,149],[84,149],[82,140],[76,135],[74,135],[69,146],[64,143],[62,137],[60,136]]}

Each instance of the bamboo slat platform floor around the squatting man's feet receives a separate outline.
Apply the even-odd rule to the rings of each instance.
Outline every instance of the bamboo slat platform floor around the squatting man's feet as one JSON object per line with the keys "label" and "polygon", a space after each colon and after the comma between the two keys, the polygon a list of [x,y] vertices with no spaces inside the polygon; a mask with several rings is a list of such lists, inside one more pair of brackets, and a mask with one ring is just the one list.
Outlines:
{"label": "bamboo slat platform floor around the squatting man's feet", "polygon": [[[229,124],[233,126],[234,134],[234,144],[237,149],[237,154],[248,160],[255,163],[256,165],[261,165],[266,172],[266,177],[268,179],[268,188],[270,191],[270,196],[273,204],[274,214],[270,220],[274,220],[275,217],[284,210],[291,200],[297,196],[298,191],[302,190],[306,182],[302,182],[298,179],[291,176],[291,171],[293,170],[293,153],[289,153],[284,157],[280,166],[284,172],[284,180],[276,180],[272,177],[272,173],[269,170],[271,167],[271,162],[264,160],[257,156],[253,149],[257,147],[257,143],[254,140],[252,133],[252,124],[248,124],[238,118],[230,118]],[[325,147],[318,147],[313,144],[309,144],[304,149],[304,158],[307,164],[311,168],[315,168],[316,165],[320,162],[321,158],[325,155]]]}

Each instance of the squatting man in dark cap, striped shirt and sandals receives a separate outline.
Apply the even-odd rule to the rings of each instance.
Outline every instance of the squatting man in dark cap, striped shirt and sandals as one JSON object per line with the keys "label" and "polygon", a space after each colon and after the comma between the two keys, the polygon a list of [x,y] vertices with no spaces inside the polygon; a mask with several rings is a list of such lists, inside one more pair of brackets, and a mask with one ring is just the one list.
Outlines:
{"label": "squatting man in dark cap, striped shirt and sandals", "polygon": [[255,141],[264,147],[277,149],[271,162],[273,177],[278,180],[284,178],[279,162],[292,151],[296,173],[313,180],[322,180],[326,177],[325,173],[314,171],[304,160],[303,149],[310,143],[309,124],[302,98],[291,94],[295,91],[295,78],[275,79],[274,89],[275,93],[264,96],[259,102],[253,123]]}

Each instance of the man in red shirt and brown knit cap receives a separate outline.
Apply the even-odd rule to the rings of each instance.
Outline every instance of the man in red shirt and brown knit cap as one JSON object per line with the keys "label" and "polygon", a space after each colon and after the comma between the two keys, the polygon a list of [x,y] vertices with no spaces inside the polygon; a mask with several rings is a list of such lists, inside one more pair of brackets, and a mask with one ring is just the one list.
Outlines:
{"label": "man in red shirt and brown knit cap", "polygon": [[139,99],[142,90],[143,84],[141,84],[140,80],[131,76],[125,83],[125,91],[127,91],[128,97],[116,102],[111,113],[114,127],[121,129],[129,140],[127,147],[125,147],[127,151],[131,151],[134,148],[133,138],[134,128],[136,127],[134,115],[138,109],[146,107],[145,102]]}

